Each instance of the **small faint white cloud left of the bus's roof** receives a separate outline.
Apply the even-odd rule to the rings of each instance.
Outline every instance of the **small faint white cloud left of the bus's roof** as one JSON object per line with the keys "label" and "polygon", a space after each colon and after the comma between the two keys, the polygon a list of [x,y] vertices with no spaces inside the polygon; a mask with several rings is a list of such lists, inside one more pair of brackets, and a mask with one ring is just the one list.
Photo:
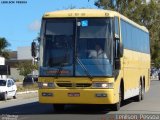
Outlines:
{"label": "small faint white cloud left of the bus's roof", "polygon": [[40,26],[41,26],[41,22],[38,21],[38,20],[35,20],[29,25],[29,30],[31,30],[31,31],[39,31],[40,30]]}

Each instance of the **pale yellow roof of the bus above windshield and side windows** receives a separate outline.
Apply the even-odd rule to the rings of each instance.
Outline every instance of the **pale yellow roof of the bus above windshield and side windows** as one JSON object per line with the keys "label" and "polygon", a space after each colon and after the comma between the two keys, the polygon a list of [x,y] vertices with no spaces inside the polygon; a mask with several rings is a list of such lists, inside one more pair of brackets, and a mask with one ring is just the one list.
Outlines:
{"label": "pale yellow roof of the bus above windshield and side windows", "polygon": [[69,10],[59,10],[53,12],[47,12],[43,15],[43,18],[89,18],[89,17],[120,17],[126,22],[148,32],[145,26],[141,26],[127,17],[121,15],[116,11],[102,10],[102,9],[69,9]]}

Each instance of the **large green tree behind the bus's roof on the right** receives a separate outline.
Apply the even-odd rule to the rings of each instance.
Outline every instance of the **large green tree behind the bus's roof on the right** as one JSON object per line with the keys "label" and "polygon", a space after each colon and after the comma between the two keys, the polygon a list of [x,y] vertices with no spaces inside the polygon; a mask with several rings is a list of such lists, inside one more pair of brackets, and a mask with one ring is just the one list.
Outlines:
{"label": "large green tree behind the bus's roof on the right", "polygon": [[[116,1],[113,4],[113,1]],[[97,0],[95,5],[102,9],[115,10],[150,32],[152,63],[160,67],[160,0]]]}

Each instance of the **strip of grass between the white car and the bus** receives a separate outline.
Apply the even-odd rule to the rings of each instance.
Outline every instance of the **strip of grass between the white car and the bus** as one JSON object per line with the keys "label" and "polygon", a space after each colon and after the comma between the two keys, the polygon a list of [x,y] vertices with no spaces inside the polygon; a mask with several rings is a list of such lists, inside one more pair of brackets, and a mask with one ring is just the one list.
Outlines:
{"label": "strip of grass between the white car and the bus", "polygon": [[38,90],[38,85],[35,83],[33,85],[17,86],[17,92],[24,92],[24,91],[31,91],[31,90]]}

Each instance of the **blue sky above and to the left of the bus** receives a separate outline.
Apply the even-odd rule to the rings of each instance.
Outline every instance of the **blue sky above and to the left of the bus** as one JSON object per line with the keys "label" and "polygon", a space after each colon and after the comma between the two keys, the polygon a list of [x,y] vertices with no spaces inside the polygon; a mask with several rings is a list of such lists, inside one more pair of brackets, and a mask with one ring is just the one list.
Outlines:
{"label": "blue sky above and to the left of the bus", "polygon": [[[14,3],[6,3],[13,1]],[[24,1],[25,3],[16,3]],[[45,12],[70,8],[97,8],[96,0],[0,0],[0,37],[10,43],[8,49],[30,46],[40,32]],[[26,3],[27,2],[27,3]]]}

